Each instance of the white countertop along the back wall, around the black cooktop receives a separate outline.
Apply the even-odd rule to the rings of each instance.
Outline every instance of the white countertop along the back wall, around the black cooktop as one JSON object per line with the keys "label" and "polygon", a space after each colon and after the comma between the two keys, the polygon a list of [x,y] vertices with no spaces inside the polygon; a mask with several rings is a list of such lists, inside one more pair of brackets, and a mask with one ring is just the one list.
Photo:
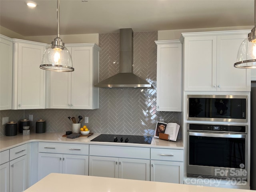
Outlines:
{"label": "white countertop along the back wall, around the black cooktop", "polygon": [[16,136],[2,136],[0,137],[0,151],[8,150],[10,148],[25,144],[28,142],[68,142],[78,144],[101,144],[101,145],[118,145],[118,146],[135,146],[135,147],[150,147],[150,148],[173,148],[184,149],[182,141],[166,141],[153,138],[151,144],[135,144],[135,143],[116,143],[116,142],[91,142],[93,138],[100,135],[98,133],[92,134],[88,138],[79,137],[69,139],[63,137],[64,132],[46,132],[46,133],[30,133],[29,135],[18,134]]}

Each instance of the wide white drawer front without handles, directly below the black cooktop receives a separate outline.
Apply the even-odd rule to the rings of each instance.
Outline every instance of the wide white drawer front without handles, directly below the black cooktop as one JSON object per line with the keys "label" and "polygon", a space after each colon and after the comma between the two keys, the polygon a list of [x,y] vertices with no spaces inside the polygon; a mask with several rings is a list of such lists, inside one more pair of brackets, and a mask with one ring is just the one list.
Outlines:
{"label": "wide white drawer front without handles, directly below the black cooktop", "polygon": [[90,155],[150,159],[150,148],[90,145]]}

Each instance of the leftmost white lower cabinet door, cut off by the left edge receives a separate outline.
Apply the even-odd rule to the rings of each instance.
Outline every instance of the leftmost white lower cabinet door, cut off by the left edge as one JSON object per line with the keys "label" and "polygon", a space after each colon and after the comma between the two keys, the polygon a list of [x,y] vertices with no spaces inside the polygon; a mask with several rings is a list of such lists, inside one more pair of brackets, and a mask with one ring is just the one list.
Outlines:
{"label": "leftmost white lower cabinet door, cut off by the left edge", "polygon": [[9,162],[0,165],[0,191],[9,192]]}

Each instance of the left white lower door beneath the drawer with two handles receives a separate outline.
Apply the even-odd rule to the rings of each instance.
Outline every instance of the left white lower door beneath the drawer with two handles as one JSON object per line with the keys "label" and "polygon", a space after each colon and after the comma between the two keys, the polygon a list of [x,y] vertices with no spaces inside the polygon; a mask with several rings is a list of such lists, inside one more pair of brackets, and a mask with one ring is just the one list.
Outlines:
{"label": "left white lower door beneath the drawer with two handles", "polygon": [[62,154],[38,153],[38,180],[50,173],[62,173]]}

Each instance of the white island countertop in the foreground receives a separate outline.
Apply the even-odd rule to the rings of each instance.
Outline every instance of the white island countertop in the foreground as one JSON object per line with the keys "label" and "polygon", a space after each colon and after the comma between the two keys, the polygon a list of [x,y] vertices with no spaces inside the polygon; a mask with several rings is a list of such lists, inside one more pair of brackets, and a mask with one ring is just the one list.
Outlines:
{"label": "white island countertop in the foreground", "polygon": [[249,192],[153,181],[51,173],[24,192]]}

